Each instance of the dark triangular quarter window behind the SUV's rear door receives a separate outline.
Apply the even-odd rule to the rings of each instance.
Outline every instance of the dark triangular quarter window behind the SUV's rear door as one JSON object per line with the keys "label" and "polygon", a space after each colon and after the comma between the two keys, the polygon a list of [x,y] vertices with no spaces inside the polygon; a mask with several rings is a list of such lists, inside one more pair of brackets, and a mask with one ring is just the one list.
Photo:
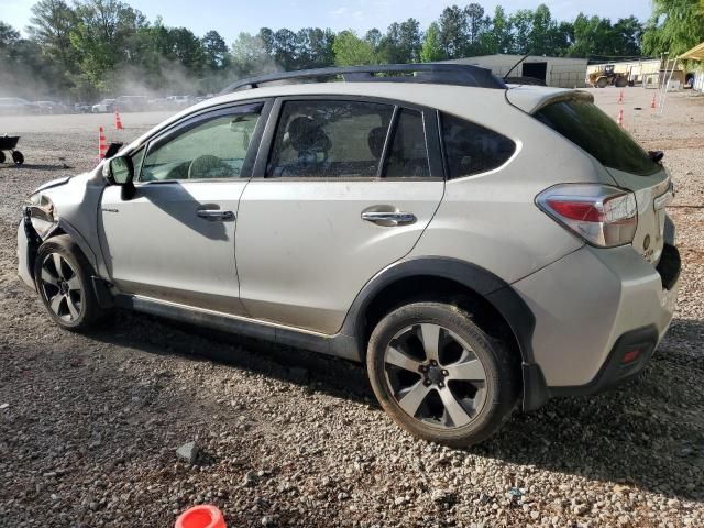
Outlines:
{"label": "dark triangular quarter window behind the SUV's rear door", "polygon": [[448,178],[461,178],[502,166],[516,151],[508,138],[454,116],[442,114]]}

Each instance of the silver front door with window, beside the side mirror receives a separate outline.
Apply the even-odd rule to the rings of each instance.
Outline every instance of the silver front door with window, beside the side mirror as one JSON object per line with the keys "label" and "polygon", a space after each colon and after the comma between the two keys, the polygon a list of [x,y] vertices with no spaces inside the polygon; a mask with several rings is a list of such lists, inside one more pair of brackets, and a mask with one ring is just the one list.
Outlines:
{"label": "silver front door with window, beside the side mirror", "polygon": [[106,188],[101,245],[121,292],[243,314],[237,210],[270,107],[257,101],[187,119],[133,154],[133,197]]}

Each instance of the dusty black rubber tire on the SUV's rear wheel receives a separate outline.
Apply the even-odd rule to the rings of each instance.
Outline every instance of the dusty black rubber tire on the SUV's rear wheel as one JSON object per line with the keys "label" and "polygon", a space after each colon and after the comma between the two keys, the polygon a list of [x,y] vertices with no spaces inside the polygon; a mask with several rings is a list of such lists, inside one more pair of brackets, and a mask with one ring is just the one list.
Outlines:
{"label": "dusty black rubber tire on the SUV's rear wheel", "polygon": [[[403,333],[403,336],[410,336],[410,338],[403,338],[405,339],[403,343],[400,342],[402,338],[398,338],[397,341],[394,341],[394,349],[407,346],[409,353],[405,354],[405,359],[408,359],[411,355],[410,349],[413,348],[411,344],[415,339],[413,332],[415,332],[416,328],[420,329],[421,324],[428,326],[426,328],[441,327],[440,337],[438,338],[440,344],[437,346],[439,350],[437,354],[438,366],[429,367],[428,365],[421,365],[419,370],[426,369],[426,373],[417,374],[420,376],[418,382],[415,382],[415,378],[410,378],[408,382],[409,386],[417,389],[424,391],[424,388],[420,387],[420,384],[422,384],[426,391],[429,391],[427,396],[419,398],[420,404],[418,404],[418,410],[411,416],[402,408],[397,399],[397,396],[404,393],[404,396],[406,396],[411,389],[405,388],[395,394],[396,391],[393,386],[392,377],[396,376],[398,372],[403,372],[408,378],[408,376],[414,375],[413,370],[406,370],[406,367],[396,370],[396,366],[388,363],[386,351],[389,349],[392,341],[398,338],[399,332],[407,332]],[[409,330],[409,328],[413,330]],[[452,334],[453,337],[448,338]],[[433,375],[437,375],[437,370],[442,369],[442,375],[451,376],[444,369],[450,370],[455,367],[458,363],[450,362],[447,366],[443,366],[443,354],[447,358],[452,351],[448,351],[448,345],[443,345],[442,341],[444,339],[447,343],[447,340],[450,339],[450,346],[455,346],[452,344],[455,342],[454,338],[459,338],[460,341],[464,342],[458,342],[461,349],[464,349],[464,346],[471,349],[469,354],[473,360],[480,360],[485,374],[485,381],[483,382],[484,388],[482,389],[484,391],[484,393],[482,393],[483,403],[477,410],[473,409],[473,416],[470,417],[471,413],[468,413],[470,421],[461,425],[461,427],[453,425],[452,417],[449,420],[450,425],[448,426],[447,424],[448,417],[451,415],[450,409],[444,406],[444,398],[448,396],[448,392],[451,392],[450,394],[454,403],[462,402],[461,408],[463,410],[472,408],[472,405],[469,405],[469,399],[461,399],[461,397],[458,396],[457,385],[451,384],[476,383],[476,386],[481,386],[482,382],[455,382],[451,377],[447,377],[443,378],[447,383],[446,385],[442,381],[437,382],[436,378],[430,380],[429,376],[431,376],[431,374],[428,373],[428,369],[431,369],[436,370]],[[422,343],[422,340],[419,340],[419,342]],[[421,344],[421,349],[425,345]],[[464,354],[465,358],[468,355],[464,351],[460,353]],[[425,355],[430,356],[430,354],[427,353]],[[470,361],[473,362],[473,360]],[[474,324],[468,312],[451,305],[440,302],[414,302],[388,314],[372,332],[367,348],[366,365],[374,394],[384,410],[386,410],[396,424],[416,437],[450,447],[466,447],[486,440],[510,417],[518,400],[520,388],[518,369],[507,346],[505,346],[502,341],[491,338]],[[451,389],[451,387],[454,388]],[[436,396],[430,396],[433,391]],[[442,391],[446,391],[446,393],[441,396]],[[479,394],[480,393],[476,392],[474,397],[477,397]],[[400,399],[403,399],[403,397]],[[437,402],[441,402],[440,405],[444,407],[444,410],[436,410],[432,417],[419,416],[422,414],[421,409],[424,408],[426,408],[429,414],[433,414],[431,404],[435,404],[436,408],[438,408]],[[438,415],[438,413],[442,413],[442,415]],[[433,420],[438,421],[433,422]],[[440,424],[442,420],[446,420],[446,424]]]}

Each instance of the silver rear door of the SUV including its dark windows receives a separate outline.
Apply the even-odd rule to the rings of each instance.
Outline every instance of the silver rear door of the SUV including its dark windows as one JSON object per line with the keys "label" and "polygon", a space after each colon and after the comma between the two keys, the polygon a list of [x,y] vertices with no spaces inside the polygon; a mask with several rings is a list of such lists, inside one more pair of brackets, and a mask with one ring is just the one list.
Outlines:
{"label": "silver rear door of the SUV including its dark windows", "polygon": [[340,97],[282,98],[273,112],[271,152],[260,151],[240,201],[241,299],[256,319],[332,334],[440,204],[437,117]]}

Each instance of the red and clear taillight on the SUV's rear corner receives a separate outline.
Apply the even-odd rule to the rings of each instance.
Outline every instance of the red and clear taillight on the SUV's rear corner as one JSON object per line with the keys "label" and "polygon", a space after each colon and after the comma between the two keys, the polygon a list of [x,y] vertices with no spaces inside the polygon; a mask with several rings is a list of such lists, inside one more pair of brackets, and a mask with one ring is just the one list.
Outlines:
{"label": "red and clear taillight on the SUV's rear corner", "polygon": [[538,195],[536,202],[565,228],[601,248],[632,242],[638,227],[635,195],[608,185],[556,185]]}

